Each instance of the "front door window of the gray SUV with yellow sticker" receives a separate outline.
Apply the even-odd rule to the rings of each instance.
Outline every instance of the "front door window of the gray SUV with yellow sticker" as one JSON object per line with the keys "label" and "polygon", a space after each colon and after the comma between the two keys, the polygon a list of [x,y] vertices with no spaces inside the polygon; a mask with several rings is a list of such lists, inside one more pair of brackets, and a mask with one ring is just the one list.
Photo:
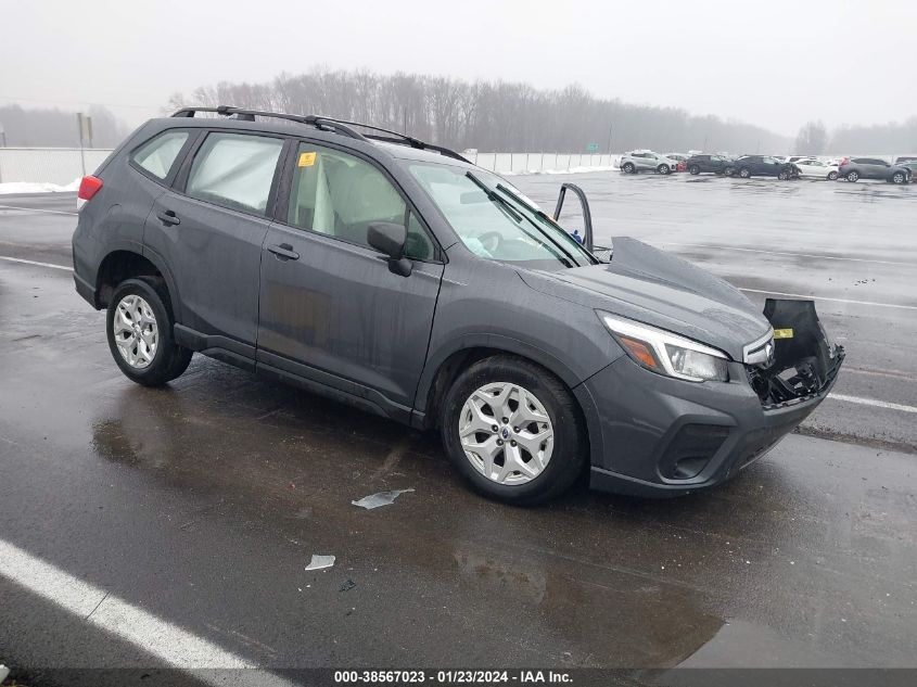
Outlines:
{"label": "front door window of the gray SUV with yellow sticker", "polygon": [[405,255],[433,257],[433,243],[391,181],[370,163],[331,148],[301,143],[293,161],[288,224],[369,246],[374,221],[406,225]]}

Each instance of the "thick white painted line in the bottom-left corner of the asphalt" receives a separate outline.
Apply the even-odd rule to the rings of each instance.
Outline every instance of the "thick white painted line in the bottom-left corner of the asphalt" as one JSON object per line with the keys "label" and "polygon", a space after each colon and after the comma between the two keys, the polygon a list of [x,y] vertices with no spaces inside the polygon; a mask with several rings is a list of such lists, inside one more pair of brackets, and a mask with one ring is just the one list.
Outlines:
{"label": "thick white painted line in the bottom-left corner of the asphalt", "polygon": [[[116,635],[171,667],[256,669],[257,665],[217,645],[143,611],[82,580],[0,539],[0,575],[78,615],[86,623]],[[11,657],[12,658],[12,657]],[[231,680],[225,674],[195,673],[194,677],[226,687],[246,685],[292,686],[293,683],[264,670],[239,670]]]}

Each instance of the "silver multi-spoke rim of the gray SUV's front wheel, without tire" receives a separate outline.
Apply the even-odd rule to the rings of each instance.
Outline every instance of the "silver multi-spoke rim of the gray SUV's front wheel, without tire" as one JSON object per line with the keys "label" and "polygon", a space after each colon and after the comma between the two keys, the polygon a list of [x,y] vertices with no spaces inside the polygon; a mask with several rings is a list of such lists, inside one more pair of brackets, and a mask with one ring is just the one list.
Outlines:
{"label": "silver multi-spoke rim of the gray SUV's front wheel, without tire", "polygon": [[469,462],[497,484],[531,482],[551,459],[555,432],[548,411],[519,384],[481,386],[464,402],[458,424]]}

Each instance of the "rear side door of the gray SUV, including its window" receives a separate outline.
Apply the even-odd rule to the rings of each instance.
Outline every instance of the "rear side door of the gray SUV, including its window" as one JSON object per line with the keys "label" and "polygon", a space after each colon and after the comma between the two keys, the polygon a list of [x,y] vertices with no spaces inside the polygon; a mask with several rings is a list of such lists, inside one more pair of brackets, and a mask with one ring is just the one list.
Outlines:
{"label": "rear side door of the gray SUV, including its window", "polygon": [[177,320],[205,345],[254,358],[262,244],[283,139],[214,130],[153,204],[144,244],[173,271]]}

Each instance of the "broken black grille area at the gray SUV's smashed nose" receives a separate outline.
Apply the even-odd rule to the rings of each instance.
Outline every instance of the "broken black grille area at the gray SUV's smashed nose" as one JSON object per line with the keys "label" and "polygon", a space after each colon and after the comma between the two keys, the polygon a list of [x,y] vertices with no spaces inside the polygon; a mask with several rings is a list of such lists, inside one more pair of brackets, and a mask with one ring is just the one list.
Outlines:
{"label": "broken black grille area at the gray SUV's smashed nose", "polygon": [[812,301],[767,298],[764,316],[774,338],[746,351],[749,383],[765,410],[785,408],[826,393],[844,359],[830,344]]}

